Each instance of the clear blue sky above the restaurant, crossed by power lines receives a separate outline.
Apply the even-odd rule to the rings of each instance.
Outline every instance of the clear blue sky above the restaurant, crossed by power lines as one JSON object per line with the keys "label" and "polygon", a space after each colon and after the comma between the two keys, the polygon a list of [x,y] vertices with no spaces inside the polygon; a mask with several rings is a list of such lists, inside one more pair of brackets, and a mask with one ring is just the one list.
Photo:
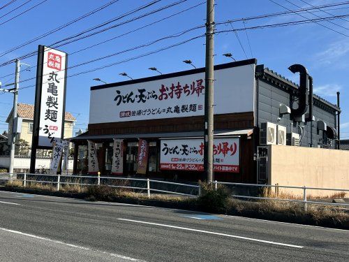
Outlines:
{"label": "clear blue sky above the restaurant, crossed by power lines", "polygon": [[[10,3],[13,2],[13,3]],[[68,76],[66,111],[77,118],[74,132],[85,130],[89,122],[90,87],[101,80],[111,83],[127,80],[119,73],[126,72],[131,78],[144,78],[158,74],[150,71],[156,67],[161,73],[172,73],[191,69],[183,60],[191,59],[196,67],[205,66],[205,0],[162,0],[156,1],[130,14],[131,10],[146,6],[154,0],[113,1],[106,8],[71,23],[56,32],[36,41],[38,36],[75,20],[112,0],[1,0],[0,1],[0,64],[29,54],[38,49],[38,45],[50,46],[98,24],[110,22],[94,29],[96,32],[117,25],[101,33],[85,37],[79,41],[66,43],[59,50],[68,53]],[[310,8],[341,1],[326,0],[216,0],[215,21],[225,22],[256,15]],[[8,6],[5,6],[10,3]],[[172,3],[177,3],[172,5]],[[172,5],[172,6],[169,6]],[[3,7],[5,6],[5,7]],[[169,6],[168,8],[163,8]],[[3,8],[2,8],[3,7]],[[162,10],[158,10],[162,8]],[[152,12],[158,10],[158,12]],[[303,64],[313,76],[315,94],[336,103],[336,92],[341,92],[341,138],[349,138],[349,17],[322,21],[318,23],[298,24],[287,27],[248,29],[250,27],[278,24],[297,20],[349,15],[349,5],[332,6],[321,10],[309,10],[311,13],[281,15],[239,22],[217,24],[216,31],[242,29],[241,31],[215,34],[214,64],[232,61],[222,54],[230,52],[237,60],[256,58],[258,64],[280,73],[294,82],[298,75],[288,71],[292,64]],[[22,14],[21,14],[22,13]],[[149,14],[150,13],[150,14]],[[302,16],[301,16],[302,15]],[[143,27],[143,28],[142,28]],[[193,29],[199,27],[198,29]],[[246,27],[246,30],[244,30]],[[188,29],[193,29],[187,31]],[[179,34],[184,32],[183,34]],[[86,36],[81,34],[80,36]],[[172,36],[172,37],[168,37]],[[162,40],[159,40],[161,39]],[[194,38],[194,39],[193,39]],[[73,38],[76,39],[76,38]],[[191,41],[188,41],[192,39]],[[159,40],[159,41],[157,41]],[[27,43],[31,41],[32,43]],[[106,41],[105,43],[101,43]],[[183,43],[176,45],[177,43]],[[154,43],[152,43],[154,42]],[[22,45],[22,48],[15,48]],[[65,43],[65,42],[64,42]],[[172,48],[154,52],[161,48]],[[89,48],[88,48],[89,47]],[[14,50],[12,50],[15,48]],[[131,49],[131,50],[130,50]],[[12,50],[11,52],[8,52]],[[76,52],[79,51],[79,52]],[[147,53],[151,53],[146,55]],[[111,55],[114,54],[114,55]],[[105,57],[100,59],[101,57]],[[20,72],[19,103],[34,104],[36,56],[22,59],[31,65],[31,69],[22,65]],[[87,64],[84,62],[95,60]],[[110,65],[105,67],[106,65]],[[75,66],[79,65],[79,66]],[[92,71],[96,68],[101,68]],[[86,71],[91,71],[86,73]],[[85,72],[85,73],[82,73]],[[14,82],[15,63],[0,66],[0,82],[3,85]],[[101,83],[102,84],[102,83]],[[22,88],[22,89],[21,89]],[[6,117],[13,104],[13,95],[0,92],[0,132],[8,129]],[[98,105],[97,105],[98,106]]]}

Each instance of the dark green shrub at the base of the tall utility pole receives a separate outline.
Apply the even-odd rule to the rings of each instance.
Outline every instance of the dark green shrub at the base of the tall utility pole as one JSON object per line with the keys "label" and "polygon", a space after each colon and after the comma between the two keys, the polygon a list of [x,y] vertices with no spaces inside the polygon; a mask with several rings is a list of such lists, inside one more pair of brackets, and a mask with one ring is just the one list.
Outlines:
{"label": "dark green shrub at the base of the tall utility pole", "polygon": [[228,209],[230,192],[224,186],[219,185],[217,190],[212,184],[200,182],[201,195],[198,204],[206,212],[225,212]]}

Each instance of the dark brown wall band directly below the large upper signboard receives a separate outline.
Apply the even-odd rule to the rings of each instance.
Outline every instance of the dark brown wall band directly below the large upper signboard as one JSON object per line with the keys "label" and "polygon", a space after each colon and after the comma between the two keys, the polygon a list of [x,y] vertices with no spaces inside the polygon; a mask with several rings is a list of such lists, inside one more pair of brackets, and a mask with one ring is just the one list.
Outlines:
{"label": "dark brown wall band directly below the large upper signboard", "polygon": [[[214,129],[247,129],[252,127],[253,112],[214,116]],[[202,131],[203,128],[203,116],[177,117],[170,119],[89,124],[89,135]]]}

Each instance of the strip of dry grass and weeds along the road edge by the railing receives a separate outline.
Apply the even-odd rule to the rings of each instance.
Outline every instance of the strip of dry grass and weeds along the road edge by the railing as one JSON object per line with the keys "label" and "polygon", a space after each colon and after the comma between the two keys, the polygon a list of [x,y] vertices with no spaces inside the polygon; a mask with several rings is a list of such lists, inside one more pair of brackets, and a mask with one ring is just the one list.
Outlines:
{"label": "strip of dry grass and weeds along the road edge by the railing", "polygon": [[[77,182],[71,180],[69,182]],[[10,187],[23,187],[22,181],[7,182]],[[124,180],[116,180],[114,186],[127,186],[128,182]],[[67,193],[84,193],[87,194],[87,199],[90,201],[115,201],[117,198],[129,198],[133,200],[156,200],[168,203],[184,203],[188,208],[194,208],[202,211],[218,212],[225,214],[247,214],[246,212],[254,212],[260,214],[260,217],[268,217],[273,219],[275,214],[283,215],[284,217],[294,217],[299,221],[309,219],[315,224],[321,224],[326,221],[332,224],[348,224],[349,212],[343,208],[324,205],[307,205],[307,210],[304,209],[304,203],[292,203],[286,201],[242,201],[236,198],[230,198],[230,194],[225,187],[219,187],[214,190],[205,184],[202,184],[202,196],[200,198],[190,198],[183,196],[172,196],[166,194],[151,194],[147,196],[147,191],[134,192],[131,189],[120,187],[108,187],[105,184],[99,186],[80,186],[77,184],[62,184],[61,191]],[[57,188],[52,184],[41,184],[37,182],[27,182],[27,188],[40,189],[45,191],[55,191]],[[264,196],[276,197],[276,194],[271,191],[264,191]],[[333,196],[333,195],[332,195]],[[343,196],[341,195],[336,195]],[[279,198],[302,199],[291,194],[280,194]],[[209,203],[209,205],[208,205]],[[209,210],[207,210],[209,209]]]}

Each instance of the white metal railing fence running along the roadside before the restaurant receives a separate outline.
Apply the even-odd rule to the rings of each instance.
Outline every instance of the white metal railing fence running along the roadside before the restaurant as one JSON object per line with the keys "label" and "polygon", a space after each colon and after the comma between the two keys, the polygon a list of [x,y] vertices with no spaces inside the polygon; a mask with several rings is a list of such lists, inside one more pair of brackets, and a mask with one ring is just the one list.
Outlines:
{"label": "white metal railing fence running along the roadside before the restaurant", "polygon": [[[51,180],[49,178],[52,177]],[[107,185],[108,187],[133,189],[138,192],[147,192],[147,196],[151,193],[161,194],[174,194],[178,196],[200,196],[201,187],[200,184],[184,184],[177,182],[168,182],[163,180],[151,180],[149,178],[133,178],[133,177],[103,177],[99,175],[86,176],[86,175],[50,175],[50,174],[30,174],[30,173],[3,173],[0,174],[0,181],[20,181],[24,187],[27,187],[28,183],[36,182],[42,184],[55,184],[57,191],[61,189],[62,185],[80,185],[80,186],[96,186]],[[122,183],[124,182],[124,184]],[[291,203],[302,203],[306,210],[307,204],[315,205],[330,205],[342,208],[349,208],[348,203],[330,203],[323,199],[315,201],[309,200],[307,194],[310,190],[322,190],[322,191],[336,191],[349,194],[349,189],[329,189],[318,187],[292,187],[281,186],[279,184],[243,184],[243,183],[230,183],[230,182],[212,182],[214,189],[218,189],[220,185],[228,187],[232,193],[233,198],[242,198],[247,201],[286,201]],[[262,193],[263,189],[274,189],[275,197],[268,197]],[[295,198],[280,198],[280,189],[299,189],[302,191],[300,194],[301,199]]]}

